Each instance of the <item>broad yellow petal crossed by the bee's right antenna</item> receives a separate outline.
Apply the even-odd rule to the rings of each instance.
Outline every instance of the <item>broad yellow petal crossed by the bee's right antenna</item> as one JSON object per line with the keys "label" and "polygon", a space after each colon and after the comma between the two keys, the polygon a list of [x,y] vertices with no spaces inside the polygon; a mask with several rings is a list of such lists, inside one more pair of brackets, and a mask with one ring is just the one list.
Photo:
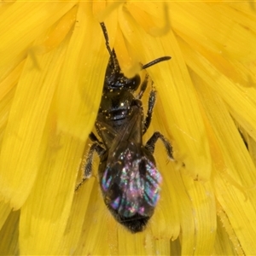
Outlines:
{"label": "broad yellow petal crossed by the bee's right antenna", "polygon": [[[181,161],[186,166],[186,172],[192,177],[207,180],[211,173],[207,135],[196,103],[195,89],[189,79],[176,38],[172,32],[161,38],[152,38],[125,12],[121,18],[120,26],[125,38],[143,63],[163,55],[172,55],[171,61],[148,69],[159,91],[160,102],[156,106],[156,115],[160,117],[161,124],[166,124],[165,127],[160,125],[160,131],[168,135],[167,137],[175,137],[177,144],[174,145],[174,150],[176,151],[177,146],[180,155],[174,156],[176,159],[183,158]],[[160,106],[161,103],[164,108]]]}

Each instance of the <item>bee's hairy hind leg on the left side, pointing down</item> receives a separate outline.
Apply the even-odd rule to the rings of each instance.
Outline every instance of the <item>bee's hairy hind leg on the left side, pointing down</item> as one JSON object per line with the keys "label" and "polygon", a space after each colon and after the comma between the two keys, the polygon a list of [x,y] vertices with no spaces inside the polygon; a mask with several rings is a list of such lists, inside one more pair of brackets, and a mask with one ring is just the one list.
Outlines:
{"label": "bee's hairy hind leg on the left side, pointing down", "polygon": [[[93,134],[93,133],[91,132],[90,135],[91,134]],[[91,137],[90,137],[90,139],[91,139]],[[86,164],[84,166],[84,177],[81,180],[81,182],[76,186],[75,191],[77,191],[83,185],[84,181],[86,179],[88,179],[91,175],[93,154],[96,152],[99,156],[101,156],[105,152],[105,148],[102,148],[101,144],[102,143],[100,141],[98,141],[98,139],[96,138],[95,143],[93,143],[90,146],[89,153],[87,154],[86,160],[85,160]]]}

